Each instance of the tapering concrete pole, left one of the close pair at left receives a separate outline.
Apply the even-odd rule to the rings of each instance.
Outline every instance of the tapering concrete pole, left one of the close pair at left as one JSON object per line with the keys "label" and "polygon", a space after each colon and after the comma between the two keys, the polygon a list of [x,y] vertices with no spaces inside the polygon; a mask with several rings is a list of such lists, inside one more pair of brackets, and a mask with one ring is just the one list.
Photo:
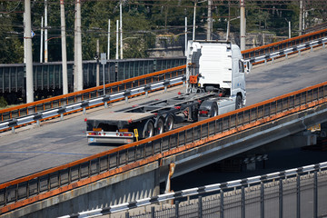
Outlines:
{"label": "tapering concrete pole, left one of the close pair at left", "polygon": [[68,94],[67,53],[65,38],[64,0],[60,0],[60,22],[62,38],[63,94]]}

